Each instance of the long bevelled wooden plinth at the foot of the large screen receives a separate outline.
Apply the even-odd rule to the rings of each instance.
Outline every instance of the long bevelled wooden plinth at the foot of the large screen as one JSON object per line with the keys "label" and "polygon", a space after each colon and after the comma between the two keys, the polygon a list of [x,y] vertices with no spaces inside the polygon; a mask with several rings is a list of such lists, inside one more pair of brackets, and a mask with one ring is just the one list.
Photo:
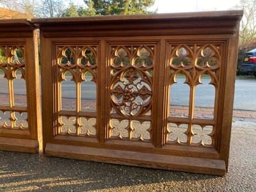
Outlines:
{"label": "long bevelled wooden plinth at the foot of the large screen", "polygon": [[129,166],[141,166],[163,170],[225,175],[225,161],[195,157],[149,154],[108,148],[79,147],[47,143],[46,156],[83,159]]}

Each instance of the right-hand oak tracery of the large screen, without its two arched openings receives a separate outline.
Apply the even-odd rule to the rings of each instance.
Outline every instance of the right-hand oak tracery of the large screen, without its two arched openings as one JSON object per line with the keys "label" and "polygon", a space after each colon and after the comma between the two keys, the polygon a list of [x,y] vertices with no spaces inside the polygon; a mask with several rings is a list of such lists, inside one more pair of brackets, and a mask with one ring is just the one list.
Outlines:
{"label": "right-hand oak tracery of the large screen, without its two arched openings", "polygon": [[[187,115],[172,116],[172,113],[170,113],[166,130],[166,142],[214,147],[216,117],[218,113],[218,93],[220,90],[222,44],[170,43],[168,46],[168,82],[171,95],[172,86],[177,83],[177,77],[182,77],[184,78],[184,84],[189,86],[189,102]],[[201,119],[195,114],[195,100],[197,99],[195,92],[196,88],[202,84],[202,79],[204,78],[210,79],[209,84],[214,86],[215,94],[209,95],[214,98],[212,108],[210,108],[213,115]],[[172,97],[170,97],[170,102],[172,102]],[[170,110],[172,110],[172,106],[170,106]],[[209,126],[211,129],[207,129]],[[200,127],[200,133],[203,135],[199,136],[198,131],[196,131],[198,129],[195,127]],[[204,138],[207,138],[207,141]]]}

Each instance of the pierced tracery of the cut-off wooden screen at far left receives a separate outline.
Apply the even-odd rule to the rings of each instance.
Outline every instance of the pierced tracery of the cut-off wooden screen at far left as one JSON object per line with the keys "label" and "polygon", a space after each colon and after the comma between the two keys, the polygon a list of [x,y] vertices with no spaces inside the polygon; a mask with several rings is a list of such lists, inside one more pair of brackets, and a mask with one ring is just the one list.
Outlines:
{"label": "pierced tracery of the cut-off wooden screen at far left", "polygon": [[0,129],[28,130],[24,49],[0,44]]}

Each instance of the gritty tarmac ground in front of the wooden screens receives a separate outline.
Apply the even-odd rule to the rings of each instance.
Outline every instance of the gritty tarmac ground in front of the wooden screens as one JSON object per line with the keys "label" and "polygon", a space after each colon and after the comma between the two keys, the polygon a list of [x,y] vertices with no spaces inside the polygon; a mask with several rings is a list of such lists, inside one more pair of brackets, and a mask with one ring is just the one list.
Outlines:
{"label": "gritty tarmac ground in front of the wooden screens", "polygon": [[256,138],[232,134],[225,177],[0,151],[0,191],[253,191]]}

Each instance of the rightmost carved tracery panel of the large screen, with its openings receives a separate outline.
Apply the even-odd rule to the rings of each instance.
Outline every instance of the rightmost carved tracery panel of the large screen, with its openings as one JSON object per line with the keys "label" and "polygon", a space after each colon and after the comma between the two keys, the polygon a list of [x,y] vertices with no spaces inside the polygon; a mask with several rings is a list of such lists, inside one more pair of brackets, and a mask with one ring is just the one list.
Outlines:
{"label": "rightmost carved tracery panel of the large screen, with its openings", "polygon": [[[218,104],[218,93],[220,90],[220,67],[221,67],[221,54],[222,44],[172,44],[168,45],[168,76],[170,86],[170,117],[168,118],[166,140],[168,143],[179,143],[182,145],[204,145],[211,147],[214,143],[214,134],[216,132],[215,126],[212,126],[212,120],[216,122],[216,114]],[[178,81],[179,79],[179,81]],[[172,93],[172,87],[178,82],[183,82],[188,88],[189,100],[186,102],[175,102],[175,94],[180,95],[179,100],[184,95],[184,85],[180,85],[180,89]],[[209,92],[207,98],[202,98],[200,95],[201,84],[213,88]],[[187,89],[186,89],[187,90]],[[199,95],[198,95],[199,94]],[[173,96],[174,95],[174,96]],[[207,102],[209,106],[203,106],[204,100],[211,97]],[[207,101],[208,101],[207,100]],[[197,104],[199,102],[199,104]],[[173,105],[176,104],[175,105]],[[182,105],[186,103],[186,105]],[[179,124],[175,124],[174,118],[180,118]],[[204,121],[202,121],[204,119]],[[209,120],[212,119],[212,120]],[[199,136],[194,129],[193,122],[198,122],[199,127],[211,126],[212,131],[208,132],[206,136]],[[188,124],[189,122],[189,124]],[[204,122],[200,123],[200,122]],[[186,129],[184,129],[184,124]],[[201,132],[203,132],[201,131]],[[200,130],[199,130],[200,132]],[[205,139],[207,138],[207,139]]]}

